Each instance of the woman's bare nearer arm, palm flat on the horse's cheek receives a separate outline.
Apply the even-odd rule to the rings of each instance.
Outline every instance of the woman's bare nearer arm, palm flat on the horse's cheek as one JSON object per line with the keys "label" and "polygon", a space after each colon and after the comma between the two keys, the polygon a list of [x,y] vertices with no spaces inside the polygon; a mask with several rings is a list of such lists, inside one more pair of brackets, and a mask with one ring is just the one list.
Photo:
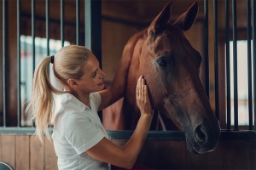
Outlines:
{"label": "woman's bare nearer arm, palm flat on the horse's cheek", "polygon": [[148,99],[148,88],[143,77],[140,77],[137,82],[137,105],[141,111],[141,116],[131,139],[123,148],[104,138],[86,152],[97,160],[108,162],[118,167],[133,167],[147,138],[153,117],[152,106]]}

